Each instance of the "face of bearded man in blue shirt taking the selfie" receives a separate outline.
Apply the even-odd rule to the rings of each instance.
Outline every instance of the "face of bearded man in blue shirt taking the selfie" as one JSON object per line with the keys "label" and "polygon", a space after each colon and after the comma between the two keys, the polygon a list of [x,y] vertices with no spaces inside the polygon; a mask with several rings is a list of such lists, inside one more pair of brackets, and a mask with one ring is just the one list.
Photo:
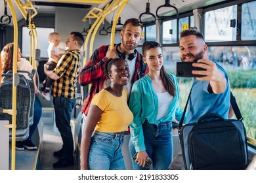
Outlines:
{"label": "face of bearded man in blue shirt taking the selfie", "polygon": [[182,37],[179,48],[181,61],[184,62],[196,62],[202,59],[207,50],[206,44],[195,35]]}

